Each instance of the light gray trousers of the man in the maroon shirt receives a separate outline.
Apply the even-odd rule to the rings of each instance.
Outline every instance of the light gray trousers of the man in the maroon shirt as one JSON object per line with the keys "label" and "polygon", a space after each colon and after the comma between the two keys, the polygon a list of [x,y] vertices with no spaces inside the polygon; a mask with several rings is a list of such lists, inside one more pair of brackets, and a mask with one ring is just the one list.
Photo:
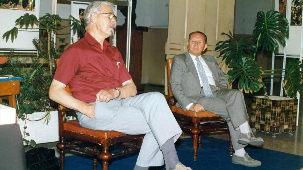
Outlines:
{"label": "light gray trousers of the man in the maroon shirt", "polygon": [[164,96],[158,92],[95,102],[94,119],[79,112],[77,115],[85,128],[145,134],[136,163],[142,167],[163,165],[161,146],[172,137],[175,142],[182,133]]}

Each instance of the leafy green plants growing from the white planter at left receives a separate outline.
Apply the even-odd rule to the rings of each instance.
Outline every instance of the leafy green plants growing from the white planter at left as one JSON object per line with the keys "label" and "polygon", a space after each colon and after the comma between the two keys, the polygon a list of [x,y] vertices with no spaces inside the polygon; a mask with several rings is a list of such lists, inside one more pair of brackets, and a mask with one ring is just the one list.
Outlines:
{"label": "leafy green plants growing from the white planter at left", "polygon": [[[68,19],[73,21],[73,31],[84,32],[84,28],[81,26],[79,20],[72,16]],[[54,74],[54,59],[58,58],[63,52],[63,49],[56,49],[55,42],[52,39],[52,33],[55,34],[58,28],[62,28],[62,26],[58,26],[58,24],[63,21],[58,15],[46,14],[42,18],[37,19],[35,15],[28,15],[27,13],[15,22],[20,27],[14,27],[5,32],[2,38],[6,38],[6,41],[8,41],[9,36],[11,36],[11,41],[14,41],[14,39],[17,38],[18,29],[21,29],[23,25],[26,26],[26,31],[34,29],[30,28],[30,25],[38,25],[39,30],[37,31],[40,32],[40,39],[33,39],[32,41],[37,49],[37,57],[31,57],[32,64],[29,67],[22,64],[20,57],[14,57],[12,52],[8,56],[8,62],[1,65],[2,69],[0,70],[0,74],[13,74],[17,77],[23,77],[20,85],[20,95],[17,101],[17,116],[25,121],[23,141],[26,145],[29,144],[35,147],[36,142],[34,140],[26,139],[29,137],[29,133],[26,132],[26,121],[29,120],[27,118],[28,114],[41,111],[46,113],[39,116],[40,118],[38,118],[38,120],[45,119],[44,122],[47,124],[51,119],[50,111],[54,110],[52,107],[54,104],[52,104],[48,98],[48,89]],[[65,41],[65,38],[60,39],[60,41]],[[48,67],[44,67],[45,64],[48,64]]]}

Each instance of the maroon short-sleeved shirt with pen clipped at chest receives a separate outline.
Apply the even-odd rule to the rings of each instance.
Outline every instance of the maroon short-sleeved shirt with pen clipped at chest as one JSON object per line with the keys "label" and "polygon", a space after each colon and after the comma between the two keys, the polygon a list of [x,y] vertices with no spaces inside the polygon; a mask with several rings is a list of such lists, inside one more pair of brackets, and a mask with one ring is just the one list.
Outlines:
{"label": "maroon short-sleeved shirt with pen clipped at chest", "polygon": [[104,40],[102,50],[101,44],[86,32],[61,55],[54,79],[68,84],[76,99],[88,103],[96,100],[98,91],[120,87],[132,77],[118,48]]}

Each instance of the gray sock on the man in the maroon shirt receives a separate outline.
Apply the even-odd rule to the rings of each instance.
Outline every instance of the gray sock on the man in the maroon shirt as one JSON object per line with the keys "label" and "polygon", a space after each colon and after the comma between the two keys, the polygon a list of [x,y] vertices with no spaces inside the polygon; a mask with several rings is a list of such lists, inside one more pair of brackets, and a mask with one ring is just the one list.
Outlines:
{"label": "gray sock on the man in the maroon shirt", "polygon": [[162,153],[164,155],[165,160],[165,168],[175,169],[179,161],[177,151],[175,148],[174,139],[168,139],[161,147]]}

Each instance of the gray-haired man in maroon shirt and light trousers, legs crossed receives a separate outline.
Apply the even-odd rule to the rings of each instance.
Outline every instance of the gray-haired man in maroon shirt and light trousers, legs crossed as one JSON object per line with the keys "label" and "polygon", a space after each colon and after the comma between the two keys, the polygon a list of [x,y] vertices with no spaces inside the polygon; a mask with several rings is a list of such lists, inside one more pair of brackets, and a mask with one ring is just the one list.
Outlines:
{"label": "gray-haired man in maroon shirt and light trousers, legs crossed", "polygon": [[[49,96],[76,110],[83,127],[145,133],[135,170],[164,161],[166,169],[190,170],[178,160],[174,142],[182,131],[164,96],[158,92],[136,96],[120,52],[105,40],[114,34],[113,8],[112,3],[96,1],[85,9],[85,37],[61,55]],[[72,96],[65,91],[67,84]]]}

